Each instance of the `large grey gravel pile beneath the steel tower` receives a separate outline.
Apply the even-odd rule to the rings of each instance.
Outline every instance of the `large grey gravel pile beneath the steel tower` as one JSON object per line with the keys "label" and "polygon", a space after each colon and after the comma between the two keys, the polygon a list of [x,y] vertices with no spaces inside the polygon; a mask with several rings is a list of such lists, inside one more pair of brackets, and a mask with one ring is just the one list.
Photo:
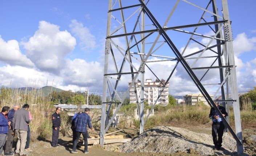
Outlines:
{"label": "large grey gravel pile beneath the steel tower", "polygon": [[[131,142],[123,144],[120,152],[188,152],[197,155],[233,155],[236,141],[228,134],[223,135],[222,151],[213,149],[212,135],[200,134],[176,127],[155,127],[145,131]],[[234,151],[235,150],[235,151]],[[233,153],[233,154],[232,154]]]}

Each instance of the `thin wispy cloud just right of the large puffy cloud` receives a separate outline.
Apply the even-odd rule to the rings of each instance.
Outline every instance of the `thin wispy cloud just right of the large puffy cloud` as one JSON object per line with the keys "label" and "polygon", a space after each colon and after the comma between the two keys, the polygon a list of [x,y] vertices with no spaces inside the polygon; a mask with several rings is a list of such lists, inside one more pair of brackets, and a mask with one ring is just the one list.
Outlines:
{"label": "thin wispy cloud just right of the large puffy cloud", "polygon": [[82,50],[88,52],[96,48],[96,39],[90,30],[77,20],[72,20],[69,25],[71,32],[79,39],[79,46]]}

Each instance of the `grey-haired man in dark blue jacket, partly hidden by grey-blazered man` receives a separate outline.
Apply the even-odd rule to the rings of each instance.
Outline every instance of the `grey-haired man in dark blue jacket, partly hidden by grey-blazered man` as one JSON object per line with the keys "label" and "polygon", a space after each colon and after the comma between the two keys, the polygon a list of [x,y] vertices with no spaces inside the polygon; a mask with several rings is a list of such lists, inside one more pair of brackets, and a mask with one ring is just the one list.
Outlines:
{"label": "grey-haired man in dark blue jacket, partly hidden by grey-blazered man", "polygon": [[13,142],[13,138],[14,138],[14,134],[15,132],[13,131],[13,127],[12,127],[12,119],[13,119],[13,115],[15,113],[15,111],[19,110],[20,106],[19,105],[14,105],[13,108],[9,111],[8,113],[8,122],[11,122],[11,128],[9,128],[8,130],[8,134],[7,134],[7,141],[5,143],[5,151],[4,151],[4,155],[13,155],[15,152],[12,151],[12,142]]}

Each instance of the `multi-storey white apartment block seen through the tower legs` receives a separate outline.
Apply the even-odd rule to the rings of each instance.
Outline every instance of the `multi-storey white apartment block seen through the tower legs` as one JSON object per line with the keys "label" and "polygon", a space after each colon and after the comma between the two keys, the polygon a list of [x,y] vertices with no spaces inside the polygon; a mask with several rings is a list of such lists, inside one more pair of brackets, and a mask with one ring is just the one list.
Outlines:
{"label": "multi-storey white apartment block seen through the tower legs", "polygon": [[[163,84],[166,83],[164,79],[161,80]],[[131,82],[128,82],[129,86],[132,85],[130,89],[130,103],[136,103],[136,96],[134,92],[134,84],[131,84]],[[135,82],[136,88],[137,88],[137,96],[140,102],[140,92],[141,92],[141,81],[137,80]],[[169,83],[167,83],[166,87],[164,88],[161,97],[158,99],[156,104],[168,104],[168,95],[169,95]],[[153,105],[155,101],[157,100],[157,97],[162,90],[163,85],[160,83],[160,81],[157,79],[155,81],[152,81],[151,79],[146,79],[144,82],[144,99],[145,102],[147,102],[149,105]]]}

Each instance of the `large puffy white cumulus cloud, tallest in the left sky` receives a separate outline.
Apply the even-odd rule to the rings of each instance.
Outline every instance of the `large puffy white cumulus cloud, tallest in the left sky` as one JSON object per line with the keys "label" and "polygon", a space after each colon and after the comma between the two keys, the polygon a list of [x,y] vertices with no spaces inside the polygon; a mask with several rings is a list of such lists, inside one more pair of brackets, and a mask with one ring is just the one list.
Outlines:
{"label": "large puffy white cumulus cloud, tallest in the left sky", "polygon": [[58,72],[65,65],[64,57],[76,46],[76,39],[68,31],[60,31],[59,26],[40,21],[34,36],[22,45],[38,69]]}

